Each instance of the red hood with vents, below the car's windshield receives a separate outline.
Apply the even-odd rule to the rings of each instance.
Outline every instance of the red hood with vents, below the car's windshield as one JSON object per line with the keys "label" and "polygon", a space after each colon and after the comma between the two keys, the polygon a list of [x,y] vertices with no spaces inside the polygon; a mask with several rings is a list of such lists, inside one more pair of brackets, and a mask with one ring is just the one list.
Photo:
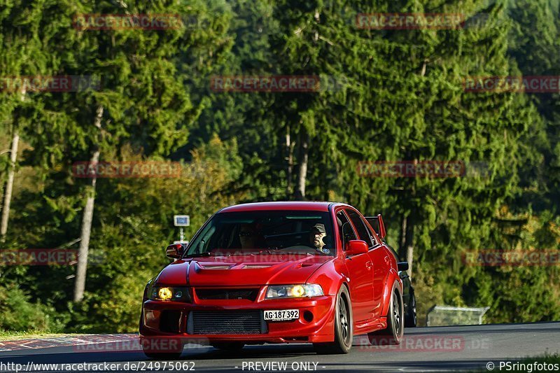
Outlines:
{"label": "red hood with vents, below the car's windshield", "polygon": [[331,256],[230,255],[177,260],[157,283],[188,286],[261,286],[305,283]]}

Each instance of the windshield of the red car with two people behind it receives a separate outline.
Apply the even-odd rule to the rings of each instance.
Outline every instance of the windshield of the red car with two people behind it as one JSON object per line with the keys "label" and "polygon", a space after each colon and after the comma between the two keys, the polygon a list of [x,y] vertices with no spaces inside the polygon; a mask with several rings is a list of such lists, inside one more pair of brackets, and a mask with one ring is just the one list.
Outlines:
{"label": "windshield of the red car with two people behind it", "polygon": [[293,253],[335,255],[332,223],[322,211],[217,213],[186,255]]}

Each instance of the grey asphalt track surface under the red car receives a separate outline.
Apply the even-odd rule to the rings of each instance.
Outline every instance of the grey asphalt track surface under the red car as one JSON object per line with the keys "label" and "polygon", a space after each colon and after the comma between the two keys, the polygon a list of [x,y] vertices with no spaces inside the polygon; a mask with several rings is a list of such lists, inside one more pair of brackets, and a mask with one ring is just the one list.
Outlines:
{"label": "grey asphalt track surface under the red car", "polygon": [[[560,353],[560,322],[409,328],[400,346],[383,345],[384,341],[372,346],[367,342],[364,337],[355,337],[350,353],[334,356],[317,355],[309,344],[246,346],[235,353],[210,346],[188,346],[177,361],[187,363],[183,367],[194,367],[195,372],[489,372],[486,369],[489,362],[494,364],[494,372],[500,372],[500,361],[514,362],[545,353]],[[148,363],[155,362],[147,360],[140,351],[112,351],[103,344],[95,348],[99,351],[80,352],[76,346],[3,351],[0,352],[0,370],[15,372],[7,363],[111,362],[123,366],[146,362],[137,370],[142,371],[144,367],[147,372],[163,371],[162,365],[159,370],[155,370],[154,365],[149,369]],[[286,363],[285,368],[283,363]],[[183,371],[169,367],[166,372]],[[75,372],[88,371],[107,372],[91,369]]]}

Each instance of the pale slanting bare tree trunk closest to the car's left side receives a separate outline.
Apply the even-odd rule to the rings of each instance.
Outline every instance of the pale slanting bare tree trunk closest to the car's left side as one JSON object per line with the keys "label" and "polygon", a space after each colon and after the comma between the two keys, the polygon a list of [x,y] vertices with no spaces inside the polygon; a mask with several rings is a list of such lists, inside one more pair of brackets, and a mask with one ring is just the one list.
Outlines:
{"label": "pale slanting bare tree trunk closest to the car's left side", "polygon": [[[101,132],[101,119],[103,116],[103,106],[97,107],[94,126]],[[94,150],[90,162],[99,162],[99,148]],[[83,211],[82,229],[80,232],[80,248],[78,249],[78,266],[76,267],[76,282],[74,283],[74,302],[83,300],[85,290],[85,275],[87,272],[87,253],[90,249],[90,235],[92,232],[93,208],[95,203],[95,183],[97,178],[94,176],[89,190],[87,190],[87,200]]]}

